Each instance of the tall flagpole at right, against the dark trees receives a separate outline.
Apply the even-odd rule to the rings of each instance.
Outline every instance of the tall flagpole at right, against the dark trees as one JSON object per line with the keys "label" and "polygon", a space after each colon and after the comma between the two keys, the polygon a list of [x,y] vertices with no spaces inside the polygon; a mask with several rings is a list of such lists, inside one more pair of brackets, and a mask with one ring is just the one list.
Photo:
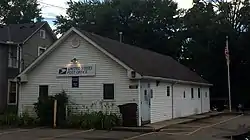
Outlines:
{"label": "tall flagpole at right, against the dark trees", "polygon": [[[226,47],[228,50],[228,36],[226,37]],[[229,52],[229,51],[228,51]],[[227,59],[227,81],[228,81],[228,101],[229,101],[229,111],[232,112],[232,104],[231,104],[231,84],[230,84],[230,60],[229,54]]]}

